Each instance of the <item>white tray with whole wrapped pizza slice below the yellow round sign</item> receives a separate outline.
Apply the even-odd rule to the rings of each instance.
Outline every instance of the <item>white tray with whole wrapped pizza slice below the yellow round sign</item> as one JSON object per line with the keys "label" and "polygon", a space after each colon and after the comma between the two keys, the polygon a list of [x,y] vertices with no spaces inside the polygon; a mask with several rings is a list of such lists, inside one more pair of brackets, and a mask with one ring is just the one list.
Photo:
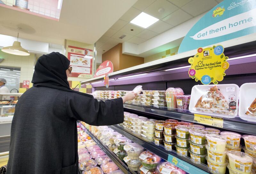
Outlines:
{"label": "white tray with whole wrapped pizza slice below the yellow round sign", "polygon": [[191,91],[189,110],[231,118],[238,113],[238,97],[236,84],[196,85]]}

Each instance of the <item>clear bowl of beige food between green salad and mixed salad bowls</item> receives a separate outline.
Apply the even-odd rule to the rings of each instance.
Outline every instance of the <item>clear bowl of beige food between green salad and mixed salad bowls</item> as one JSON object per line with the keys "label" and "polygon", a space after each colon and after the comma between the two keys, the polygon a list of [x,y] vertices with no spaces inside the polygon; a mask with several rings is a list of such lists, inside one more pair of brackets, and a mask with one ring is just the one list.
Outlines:
{"label": "clear bowl of beige food between green salad and mixed salad bowls", "polygon": [[124,146],[124,150],[127,152],[128,158],[135,160],[139,159],[144,148],[137,143],[129,143]]}

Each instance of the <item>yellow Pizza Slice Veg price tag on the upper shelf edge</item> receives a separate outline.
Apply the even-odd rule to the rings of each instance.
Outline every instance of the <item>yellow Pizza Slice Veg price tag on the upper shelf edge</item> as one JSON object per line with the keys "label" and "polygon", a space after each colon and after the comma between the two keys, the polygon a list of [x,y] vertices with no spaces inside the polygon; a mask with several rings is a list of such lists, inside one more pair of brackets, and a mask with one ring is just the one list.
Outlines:
{"label": "yellow Pizza Slice Veg price tag on the upper shelf edge", "polygon": [[195,114],[194,122],[202,123],[202,124],[209,125],[209,126],[223,128],[223,118],[220,118],[220,117],[212,117],[212,116],[208,116],[208,115]]}

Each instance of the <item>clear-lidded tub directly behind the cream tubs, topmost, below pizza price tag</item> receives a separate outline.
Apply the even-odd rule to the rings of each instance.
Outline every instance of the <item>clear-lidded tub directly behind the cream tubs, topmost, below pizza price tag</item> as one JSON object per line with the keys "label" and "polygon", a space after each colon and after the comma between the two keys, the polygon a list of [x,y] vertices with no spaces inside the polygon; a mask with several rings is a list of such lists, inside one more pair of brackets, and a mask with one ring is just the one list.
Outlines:
{"label": "clear-lidded tub directly behind the cream tubs, topmost, below pizza price tag", "polygon": [[238,148],[240,146],[240,139],[242,135],[234,132],[220,132],[220,135],[223,135],[227,138],[226,146],[234,148]]}

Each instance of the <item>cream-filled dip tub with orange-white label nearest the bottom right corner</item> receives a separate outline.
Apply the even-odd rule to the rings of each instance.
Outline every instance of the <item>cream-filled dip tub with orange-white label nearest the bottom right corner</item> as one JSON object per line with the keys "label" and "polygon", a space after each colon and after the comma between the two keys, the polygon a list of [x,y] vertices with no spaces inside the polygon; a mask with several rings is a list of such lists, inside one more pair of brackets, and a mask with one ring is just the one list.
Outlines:
{"label": "cream-filled dip tub with orange-white label nearest the bottom right corner", "polygon": [[232,170],[240,173],[251,173],[253,159],[250,155],[234,150],[229,151],[227,155]]}

